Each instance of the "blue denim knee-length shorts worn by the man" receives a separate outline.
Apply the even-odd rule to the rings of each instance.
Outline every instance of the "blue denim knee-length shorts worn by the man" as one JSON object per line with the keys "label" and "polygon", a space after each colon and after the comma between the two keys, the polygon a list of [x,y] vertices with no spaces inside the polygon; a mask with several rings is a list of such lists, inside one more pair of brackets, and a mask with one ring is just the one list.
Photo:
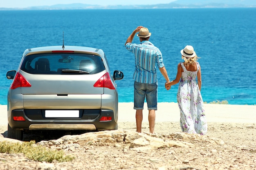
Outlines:
{"label": "blue denim knee-length shorts worn by the man", "polygon": [[157,82],[152,84],[134,82],[134,109],[143,109],[145,97],[148,110],[157,110]]}

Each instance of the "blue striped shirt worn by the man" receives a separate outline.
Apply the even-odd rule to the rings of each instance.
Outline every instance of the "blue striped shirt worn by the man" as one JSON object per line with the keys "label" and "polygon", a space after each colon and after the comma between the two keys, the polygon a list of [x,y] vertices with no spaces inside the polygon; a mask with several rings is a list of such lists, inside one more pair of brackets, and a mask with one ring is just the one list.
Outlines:
{"label": "blue striped shirt worn by the man", "polygon": [[161,51],[149,41],[141,44],[126,43],[126,49],[135,55],[133,79],[139,83],[155,83],[158,68],[164,67]]}

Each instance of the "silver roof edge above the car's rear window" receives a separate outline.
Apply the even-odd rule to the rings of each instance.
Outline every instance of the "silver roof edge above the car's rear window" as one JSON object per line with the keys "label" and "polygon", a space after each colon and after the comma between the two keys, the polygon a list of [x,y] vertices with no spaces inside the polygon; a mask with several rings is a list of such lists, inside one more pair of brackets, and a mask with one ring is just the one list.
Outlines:
{"label": "silver roof edge above the car's rear window", "polygon": [[58,51],[59,53],[61,53],[62,51],[63,53],[67,51],[74,51],[74,53],[87,53],[92,55],[98,55],[101,57],[104,56],[103,50],[85,46],[65,46],[64,49],[63,46],[42,46],[26,49],[23,53],[23,56],[38,53],[52,53],[52,51]]}

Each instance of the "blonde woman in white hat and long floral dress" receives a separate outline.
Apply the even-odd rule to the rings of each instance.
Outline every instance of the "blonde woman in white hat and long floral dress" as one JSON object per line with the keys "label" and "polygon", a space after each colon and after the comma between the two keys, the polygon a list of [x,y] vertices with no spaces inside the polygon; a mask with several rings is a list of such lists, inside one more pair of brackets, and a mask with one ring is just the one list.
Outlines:
{"label": "blonde woman in white hat and long floral dress", "polygon": [[[203,100],[200,93],[202,80],[200,64],[193,46],[187,45],[180,51],[184,62],[178,64],[176,78],[165,84],[166,88],[180,82],[177,102],[180,108],[180,126],[182,132],[207,133],[207,122],[204,115]],[[196,82],[196,77],[198,81]]]}

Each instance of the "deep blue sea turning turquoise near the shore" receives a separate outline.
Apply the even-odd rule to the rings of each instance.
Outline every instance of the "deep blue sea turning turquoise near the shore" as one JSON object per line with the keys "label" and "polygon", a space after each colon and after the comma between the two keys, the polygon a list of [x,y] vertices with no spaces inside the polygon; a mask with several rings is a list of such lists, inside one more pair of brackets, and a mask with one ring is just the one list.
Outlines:
{"label": "deep blue sea turning turquoise near the shore", "polygon": [[[124,44],[137,26],[152,33],[150,42],[163,55],[170,80],[175,79],[180,50],[192,45],[200,59],[203,101],[256,104],[256,8],[92,9],[0,11],[0,104],[7,104],[12,80],[25,49],[64,44],[90,46],[106,53],[119,102],[133,102],[134,55]],[[133,43],[139,43],[134,37]],[[157,71],[158,102],[177,102],[178,84],[169,91]]]}

